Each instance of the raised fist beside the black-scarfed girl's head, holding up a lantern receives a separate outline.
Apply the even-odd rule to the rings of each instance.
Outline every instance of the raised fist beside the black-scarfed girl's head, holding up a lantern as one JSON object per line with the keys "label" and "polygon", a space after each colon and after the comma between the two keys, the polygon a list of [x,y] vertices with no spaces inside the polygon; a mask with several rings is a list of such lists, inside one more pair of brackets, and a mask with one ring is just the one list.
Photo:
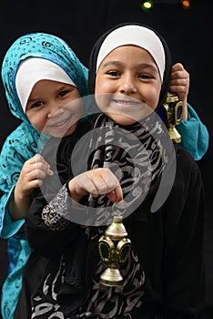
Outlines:
{"label": "raised fist beside the black-scarfed girl's head, holding up a lantern", "polygon": [[184,103],[184,118],[188,119],[189,74],[180,63],[172,66],[169,92],[177,93]]}

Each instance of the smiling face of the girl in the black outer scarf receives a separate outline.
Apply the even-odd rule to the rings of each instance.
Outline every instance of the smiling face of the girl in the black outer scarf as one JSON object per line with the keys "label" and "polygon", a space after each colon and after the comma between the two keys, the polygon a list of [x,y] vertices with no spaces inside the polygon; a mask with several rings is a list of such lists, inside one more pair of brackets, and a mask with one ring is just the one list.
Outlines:
{"label": "smiling face of the girl in the black outer scarf", "polygon": [[157,108],[160,88],[157,64],[139,46],[117,47],[105,57],[96,73],[96,103],[121,125],[145,118]]}

